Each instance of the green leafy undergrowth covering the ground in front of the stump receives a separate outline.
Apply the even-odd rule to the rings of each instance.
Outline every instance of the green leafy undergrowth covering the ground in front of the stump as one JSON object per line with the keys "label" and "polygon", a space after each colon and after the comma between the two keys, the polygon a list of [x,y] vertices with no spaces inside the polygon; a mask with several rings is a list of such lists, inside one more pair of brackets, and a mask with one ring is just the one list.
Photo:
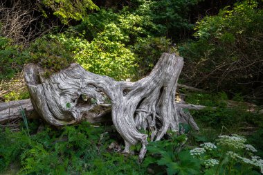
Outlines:
{"label": "green leafy undergrowth covering the ground in front of the stump", "polygon": [[[186,100],[211,104],[207,109],[191,111],[200,127],[199,133],[189,125],[181,125],[185,134],[169,132],[165,139],[149,142],[143,163],[138,163],[138,156],[120,153],[123,141],[111,126],[93,127],[82,122],[55,128],[30,120],[21,124],[19,132],[6,128],[0,133],[0,173],[15,167],[17,171],[12,170],[13,174],[260,174],[262,159],[257,157],[263,155],[262,129],[258,129],[262,126],[260,115],[229,109],[218,102],[226,99],[224,95],[218,98],[220,95],[210,98],[217,109],[211,108],[209,94],[192,94],[195,98],[188,95]],[[242,134],[244,123],[257,128],[247,139],[233,135]],[[239,143],[234,142],[235,137]],[[110,146],[112,143],[114,148]],[[207,145],[212,145],[211,149]],[[140,147],[131,149],[138,155]]]}

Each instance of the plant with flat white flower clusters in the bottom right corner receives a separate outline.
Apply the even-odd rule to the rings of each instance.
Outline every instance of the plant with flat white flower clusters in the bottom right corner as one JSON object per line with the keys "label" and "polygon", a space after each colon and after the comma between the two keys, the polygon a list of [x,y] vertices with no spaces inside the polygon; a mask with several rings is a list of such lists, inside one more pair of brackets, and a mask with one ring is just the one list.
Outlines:
{"label": "plant with flat white flower clusters in the bottom right corner", "polygon": [[215,144],[204,142],[190,154],[201,160],[204,174],[263,174],[263,160],[256,151],[246,138],[233,134],[219,136]]}

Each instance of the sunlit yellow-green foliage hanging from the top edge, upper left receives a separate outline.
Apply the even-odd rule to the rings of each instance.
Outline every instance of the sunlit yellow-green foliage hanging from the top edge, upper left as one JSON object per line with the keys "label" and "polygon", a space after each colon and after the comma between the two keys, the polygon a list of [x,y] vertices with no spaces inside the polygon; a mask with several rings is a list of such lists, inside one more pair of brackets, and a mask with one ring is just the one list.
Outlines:
{"label": "sunlit yellow-green foliage hanging from the top edge, upper left", "polygon": [[[80,21],[87,17],[87,9],[99,10],[98,6],[91,0],[44,0],[42,3],[44,6],[51,8],[54,11],[54,15],[59,17],[64,24],[68,24],[70,19]],[[44,12],[44,16],[47,17],[46,12]]]}

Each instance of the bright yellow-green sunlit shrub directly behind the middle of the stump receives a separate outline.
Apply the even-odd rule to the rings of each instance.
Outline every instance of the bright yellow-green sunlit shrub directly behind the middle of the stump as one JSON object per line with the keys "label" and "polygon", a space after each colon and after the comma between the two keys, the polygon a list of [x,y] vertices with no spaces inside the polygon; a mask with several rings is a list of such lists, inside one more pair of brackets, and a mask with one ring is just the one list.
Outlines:
{"label": "bright yellow-green sunlit shrub directly behind the middle of the stump", "polygon": [[134,53],[125,48],[125,44],[110,41],[108,37],[102,33],[91,42],[76,37],[66,38],[65,35],[56,38],[75,54],[73,58],[87,71],[116,80],[133,77],[137,67]]}

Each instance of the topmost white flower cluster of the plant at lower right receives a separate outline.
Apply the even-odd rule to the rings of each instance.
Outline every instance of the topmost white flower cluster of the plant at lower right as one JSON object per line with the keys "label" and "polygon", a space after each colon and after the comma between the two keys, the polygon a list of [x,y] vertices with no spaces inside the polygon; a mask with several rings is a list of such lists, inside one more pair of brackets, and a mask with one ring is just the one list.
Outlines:
{"label": "topmost white flower cluster of the plant at lower right", "polygon": [[234,147],[235,149],[243,149],[245,147],[245,142],[246,138],[236,134],[233,136],[219,136],[219,139],[217,139],[218,145]]}

